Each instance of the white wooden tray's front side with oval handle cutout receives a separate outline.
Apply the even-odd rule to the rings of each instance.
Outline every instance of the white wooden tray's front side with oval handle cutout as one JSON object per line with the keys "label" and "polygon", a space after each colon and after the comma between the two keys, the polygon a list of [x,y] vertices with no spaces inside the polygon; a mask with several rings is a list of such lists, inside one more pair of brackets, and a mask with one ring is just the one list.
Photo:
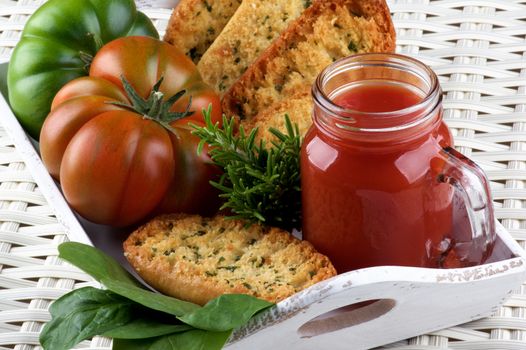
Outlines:
{"label": "white wooden tray's front side with oval handle cutout", "polygon": [[463,269],[356,270],[260,314],[227,349],[370,349],[488,316],[525,276],[522,257]]}

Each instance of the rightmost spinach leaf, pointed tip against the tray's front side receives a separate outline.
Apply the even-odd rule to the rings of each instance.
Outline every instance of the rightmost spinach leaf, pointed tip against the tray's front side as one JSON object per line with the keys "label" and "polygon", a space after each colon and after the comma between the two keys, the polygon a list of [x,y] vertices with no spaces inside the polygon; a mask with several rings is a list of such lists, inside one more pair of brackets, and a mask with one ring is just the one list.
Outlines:
{"label": "rightmost spinach leaf, pointed tip against the tray's front side", "polygon": [[257,312],[273,305],[250,295],[225,294],[178,319],[195,328],[223,332],[244,325]]}

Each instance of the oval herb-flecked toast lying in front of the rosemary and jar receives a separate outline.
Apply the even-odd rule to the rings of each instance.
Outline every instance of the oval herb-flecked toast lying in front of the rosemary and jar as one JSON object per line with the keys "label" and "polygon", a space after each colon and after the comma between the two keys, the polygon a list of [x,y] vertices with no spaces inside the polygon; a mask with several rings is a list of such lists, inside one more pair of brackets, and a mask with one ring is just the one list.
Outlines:
{"label": "oval herb-flecked toast lying in front of the rosemary and jar", "polygon": [[278,302],[336,275],[326,256],[289,232],[222,216],[155,218],[124,251],[152,287],[201,305],[231,293]]}

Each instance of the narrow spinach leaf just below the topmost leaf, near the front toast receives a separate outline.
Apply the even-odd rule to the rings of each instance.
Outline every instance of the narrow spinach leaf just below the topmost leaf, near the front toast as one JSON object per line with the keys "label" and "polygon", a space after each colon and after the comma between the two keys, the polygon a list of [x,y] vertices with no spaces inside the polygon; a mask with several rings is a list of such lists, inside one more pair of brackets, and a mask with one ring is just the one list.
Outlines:
{"label": "narrow spinach leaf just below the topmost leaf, near the front toast", "polygon": [[112,292],[125,298],[149,307],[150,309],[166,312],[175,316],[183,316],[201,308],[199,305],[131,286],[128,283],[111,278],[103,278],[100,282]]}

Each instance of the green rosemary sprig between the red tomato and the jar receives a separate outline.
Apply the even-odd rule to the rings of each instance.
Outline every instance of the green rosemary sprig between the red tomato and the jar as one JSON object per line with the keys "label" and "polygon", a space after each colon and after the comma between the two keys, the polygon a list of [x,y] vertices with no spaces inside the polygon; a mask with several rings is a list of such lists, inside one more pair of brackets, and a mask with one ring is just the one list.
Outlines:
{"label": "green rosemary sprig between the red tomato and the jar", "polygon": [[262,222],[285,229],[301,225],[300,148],[298,126],[285,115],[287,133],[270,128],[275,136],[271,147],[255,141],[257,128],[236,132],[234,118],[223,116],[223,126],[213,124],[210,108],[205,126],[192,125],[200,139],[198,152],[210,146],[212,161],[223,169],[223,176],[211,184],[221,191],[226,209],[233,219]]}

